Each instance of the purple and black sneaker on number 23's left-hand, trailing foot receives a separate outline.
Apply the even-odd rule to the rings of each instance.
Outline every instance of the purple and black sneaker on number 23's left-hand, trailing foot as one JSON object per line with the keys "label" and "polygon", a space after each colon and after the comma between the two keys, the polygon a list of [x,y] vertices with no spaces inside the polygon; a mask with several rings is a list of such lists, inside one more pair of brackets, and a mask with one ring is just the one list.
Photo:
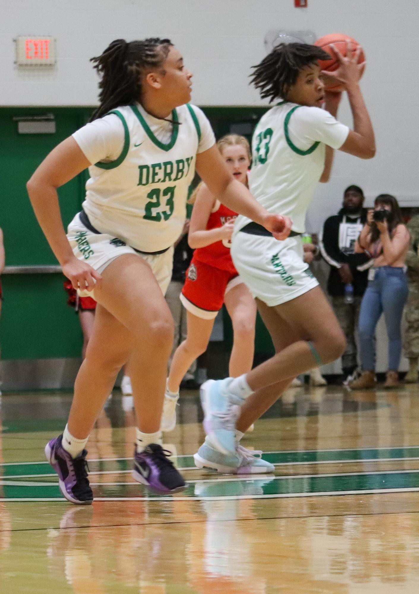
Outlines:
{"label": "purple and black sneaker on number 23's left-hand, trailing foot", "polygon": [[45,446],[46,459],[59,477],[59,490],[71,503],[92,505],[93,492],[87,478],[87,451],[83,450],[79,456],[72,458],[61,442],[62,435],[59,435]]}

